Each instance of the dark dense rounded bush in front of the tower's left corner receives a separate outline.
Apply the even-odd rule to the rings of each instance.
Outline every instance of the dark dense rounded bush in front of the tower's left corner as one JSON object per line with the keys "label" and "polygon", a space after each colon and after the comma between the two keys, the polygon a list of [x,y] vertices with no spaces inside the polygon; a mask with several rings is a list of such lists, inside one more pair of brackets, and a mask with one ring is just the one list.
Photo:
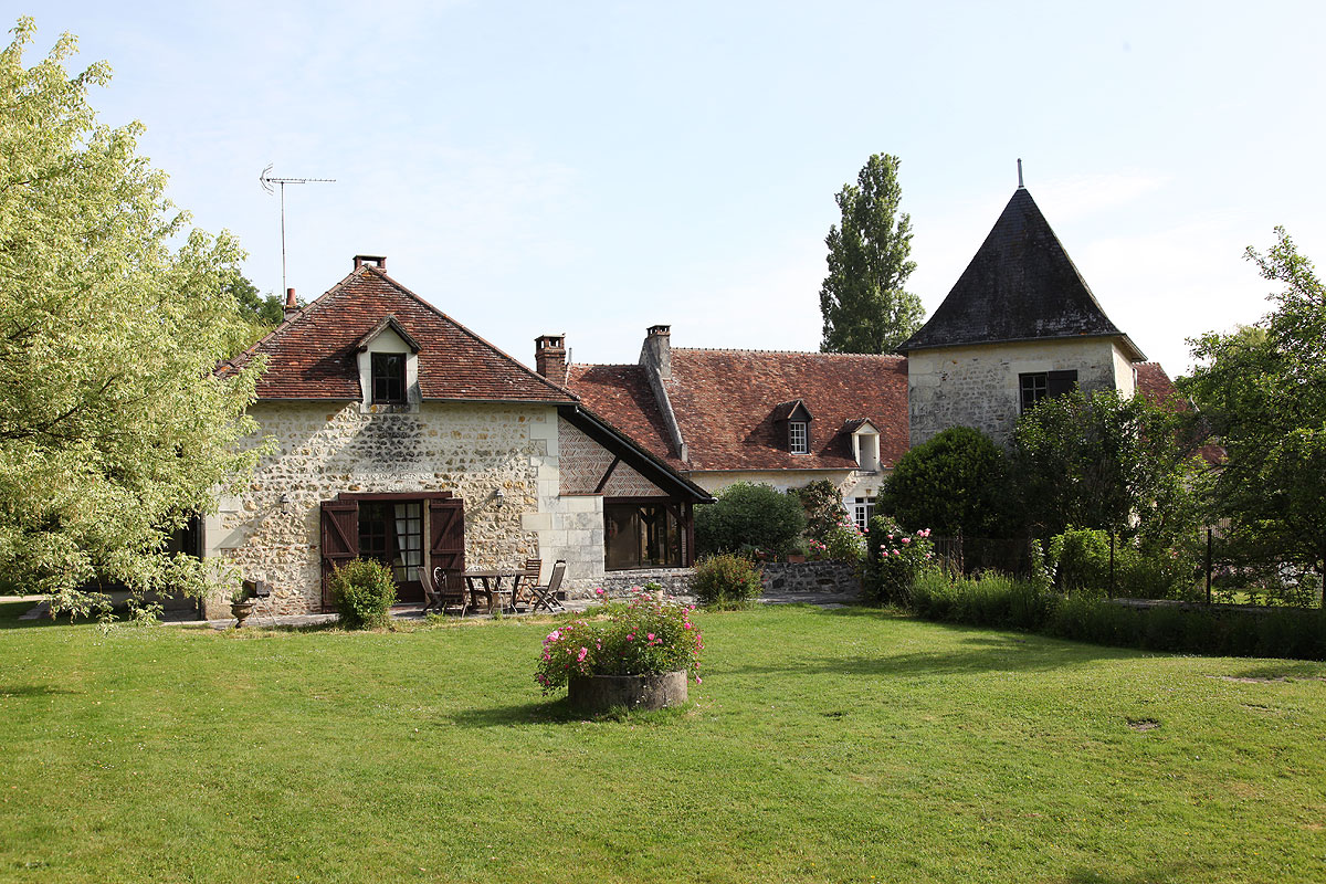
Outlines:
{"label": "dark dense rounded bush in front of the tower's left corner", "polygon": [[949,427],[898,460],[878,508],[911,530],[1001,537],[1006,492],[1004,451],[979,429]]}

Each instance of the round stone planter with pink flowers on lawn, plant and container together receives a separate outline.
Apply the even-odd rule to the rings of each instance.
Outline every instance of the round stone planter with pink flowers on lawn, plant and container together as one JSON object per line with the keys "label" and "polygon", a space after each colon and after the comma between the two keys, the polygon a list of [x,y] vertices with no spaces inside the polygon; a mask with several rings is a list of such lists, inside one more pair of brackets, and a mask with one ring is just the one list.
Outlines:
{"label": "round stone planter with pink flowers on lawn, plant and container together", "polygon": [[603,618],[572,620],[544,639],[534,673],[544,693],[565,685],[572,708],[590,714],[686,702],[687,677],[700,683],[704,647],[693,608],[642,590],[605,610]]}

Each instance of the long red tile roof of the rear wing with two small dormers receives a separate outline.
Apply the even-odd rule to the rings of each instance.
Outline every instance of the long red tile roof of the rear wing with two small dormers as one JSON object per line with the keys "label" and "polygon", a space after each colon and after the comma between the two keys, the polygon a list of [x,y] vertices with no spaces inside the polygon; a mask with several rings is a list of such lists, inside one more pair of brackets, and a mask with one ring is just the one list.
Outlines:
{"label": "long red tile roof of the rear wing with two small dormers", "polygon": [[[849,420],[879,428],[891,468],[907,451],[907,360],[902,357],[672,349],[667,392],[691,460],[680,464],[639,366],[572,366],[585,404],[674,467],[691,470],[853,469]],[[813,415],[810,453],[788,451],[780,404]]]}

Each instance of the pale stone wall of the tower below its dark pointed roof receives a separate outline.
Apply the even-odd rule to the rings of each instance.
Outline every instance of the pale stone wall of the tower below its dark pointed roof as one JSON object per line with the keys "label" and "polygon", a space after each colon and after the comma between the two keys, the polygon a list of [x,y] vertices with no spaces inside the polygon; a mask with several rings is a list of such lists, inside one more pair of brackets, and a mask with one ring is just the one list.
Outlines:
{"label": "pale stone wall of the tower below its dark pointed roof", "polygon": [[[920,350],[907,358],[912,447],[949,427],[975,427],[1004,444],[1021,414],[1018,375],[1078,372],[1083,390],[1132,391],[1132,370],[1110,338]],[[1116,374],[1119,375],[1116,378]]]}

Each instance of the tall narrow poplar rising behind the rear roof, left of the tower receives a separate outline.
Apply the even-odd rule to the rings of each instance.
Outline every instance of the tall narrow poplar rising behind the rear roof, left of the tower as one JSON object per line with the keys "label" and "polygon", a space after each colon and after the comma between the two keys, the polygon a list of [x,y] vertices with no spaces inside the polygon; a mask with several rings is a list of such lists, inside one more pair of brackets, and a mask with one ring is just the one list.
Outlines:
{"label": "tall narrow poplar rising behind the rear roof, left of the tower", "polygon": [[903,290],[916,269],[911,216],[898,215],[898,158],[875,154],[843,184],[842,225],[829,228],[829,276],[819,289],[823,353],[890,353],[920,327],[920,298]]}

